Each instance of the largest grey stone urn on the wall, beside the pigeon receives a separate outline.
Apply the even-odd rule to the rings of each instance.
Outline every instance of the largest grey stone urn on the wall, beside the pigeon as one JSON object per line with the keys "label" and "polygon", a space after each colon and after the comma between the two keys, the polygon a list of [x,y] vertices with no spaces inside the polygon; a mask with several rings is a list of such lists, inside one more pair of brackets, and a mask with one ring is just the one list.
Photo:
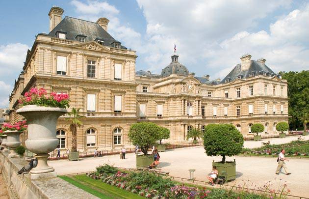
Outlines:
{"label": "largest grey stone urn on the wall, beside the pigeon", "polygon": [[38,165],[30,171],[30,178],[57,176],[54,169],[47,164],[47,158],[58,145],[56,138],[56,123],[60,115],[67,113],[66,109],[57,107],[40,107],[27,105],[18,109],[17,114],[27,119],[28,139],[26,148],[35,153]]}

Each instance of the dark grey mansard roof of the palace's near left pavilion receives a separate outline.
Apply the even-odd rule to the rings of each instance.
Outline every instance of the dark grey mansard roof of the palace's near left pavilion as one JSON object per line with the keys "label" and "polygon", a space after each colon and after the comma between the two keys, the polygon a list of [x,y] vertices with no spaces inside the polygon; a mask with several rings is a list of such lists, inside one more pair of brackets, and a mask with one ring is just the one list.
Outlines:
{"label": "dark grey mansard roof of the palace's near left pavilion", "polygon": [[[66,39],[77,40],[77,35],[86,36],[85,42],[100,39],[104,41],[105,46],[112,46],[113,42],[121,42],[114,39],[108,32],[106,32],[99,24],[89,22],[81,19],[66,16],[48,36],[56,37],[57,32],[66,33]],[[113,47],[113,46],[112,46]],[[121,46],[126,49],[126,47]]]}

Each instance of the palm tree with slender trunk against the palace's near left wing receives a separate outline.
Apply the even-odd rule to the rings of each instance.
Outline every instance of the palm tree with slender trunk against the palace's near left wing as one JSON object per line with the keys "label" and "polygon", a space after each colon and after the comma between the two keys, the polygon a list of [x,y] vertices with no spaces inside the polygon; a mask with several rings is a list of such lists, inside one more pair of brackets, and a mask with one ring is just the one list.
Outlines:
{"label": "palm tree with slender trunk against the palace's near left wing", "polygon": [[83,115],[79,114],[79,109],[72,108],[72,112],[68,113],[69,117],[66,118],[68,121],[70,127],[69,130],[72,133],[72,148],[71,152],[77,151],[77,127],[80,127],[82,125],[82,122],[80,121],[80,118],[83,118]]}

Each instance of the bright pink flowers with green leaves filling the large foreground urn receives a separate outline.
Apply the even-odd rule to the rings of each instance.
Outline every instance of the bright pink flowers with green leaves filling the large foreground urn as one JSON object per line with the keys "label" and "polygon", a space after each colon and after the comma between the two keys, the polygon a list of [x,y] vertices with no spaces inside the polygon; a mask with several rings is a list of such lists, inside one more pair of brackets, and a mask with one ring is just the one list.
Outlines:
{"label": "bright pink flowers with green leaves filling the large foreground urn", "polygon": [[44,88],[31,88],[29,92],[26,92],[24,97],[19,99],[19,103],[22,106],[37,105],[45,107],[59,107],[69,108],[69,95],[66,93],[56,94],[52,92],[50,96],[47,95],[47,91]]}

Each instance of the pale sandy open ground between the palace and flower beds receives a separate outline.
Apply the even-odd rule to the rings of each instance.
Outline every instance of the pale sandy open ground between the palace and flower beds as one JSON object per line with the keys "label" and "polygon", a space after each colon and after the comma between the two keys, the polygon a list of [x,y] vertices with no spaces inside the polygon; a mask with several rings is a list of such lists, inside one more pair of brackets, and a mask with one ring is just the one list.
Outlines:
{"label": "pale sandy open ground between the palace and flower beds", "polygon": [[[286,143],[297,140],[297,137],[288,137],[285,139],[269,139],[272,144]],[[309,136],[306,137],[309,140]],[[268,140],[267,140],[268,141]],[[266,142],[267,142],[266,141]],[[265,141],[263,141],[265,142]],[[245,147],[258,147],[261,142],[245,141]],[[180,148],[160,153],[161,170],[169,172],[171,176],[189,178],[189,169],[195,169],[195,178],[197,180],[206,180],[206,175],[211,171],[212,160],[220,161],[221,157],[206,156],[202,146]],[[227,160],[236,159],[236,180],[229,182],[229,185],[243,186],[244,182],[248,188],[263,187],[267,182],[272,184],[271,189],[277,189],[284,183],[291,190],[291,195],[309,197],[309,159],[291,159],[286,162],[291,175],[275,174],[277,167],[277,158],[266,157],[227,157]],[[121,160],[119,155],[103,156],[100,158],[83,158],[78,162],[69,162],[67,160],[50,161],[59,175],[94,171],[95,168],[104,163],[123,168],[135,168],[135,154],[129,153],[125,160]]]}

